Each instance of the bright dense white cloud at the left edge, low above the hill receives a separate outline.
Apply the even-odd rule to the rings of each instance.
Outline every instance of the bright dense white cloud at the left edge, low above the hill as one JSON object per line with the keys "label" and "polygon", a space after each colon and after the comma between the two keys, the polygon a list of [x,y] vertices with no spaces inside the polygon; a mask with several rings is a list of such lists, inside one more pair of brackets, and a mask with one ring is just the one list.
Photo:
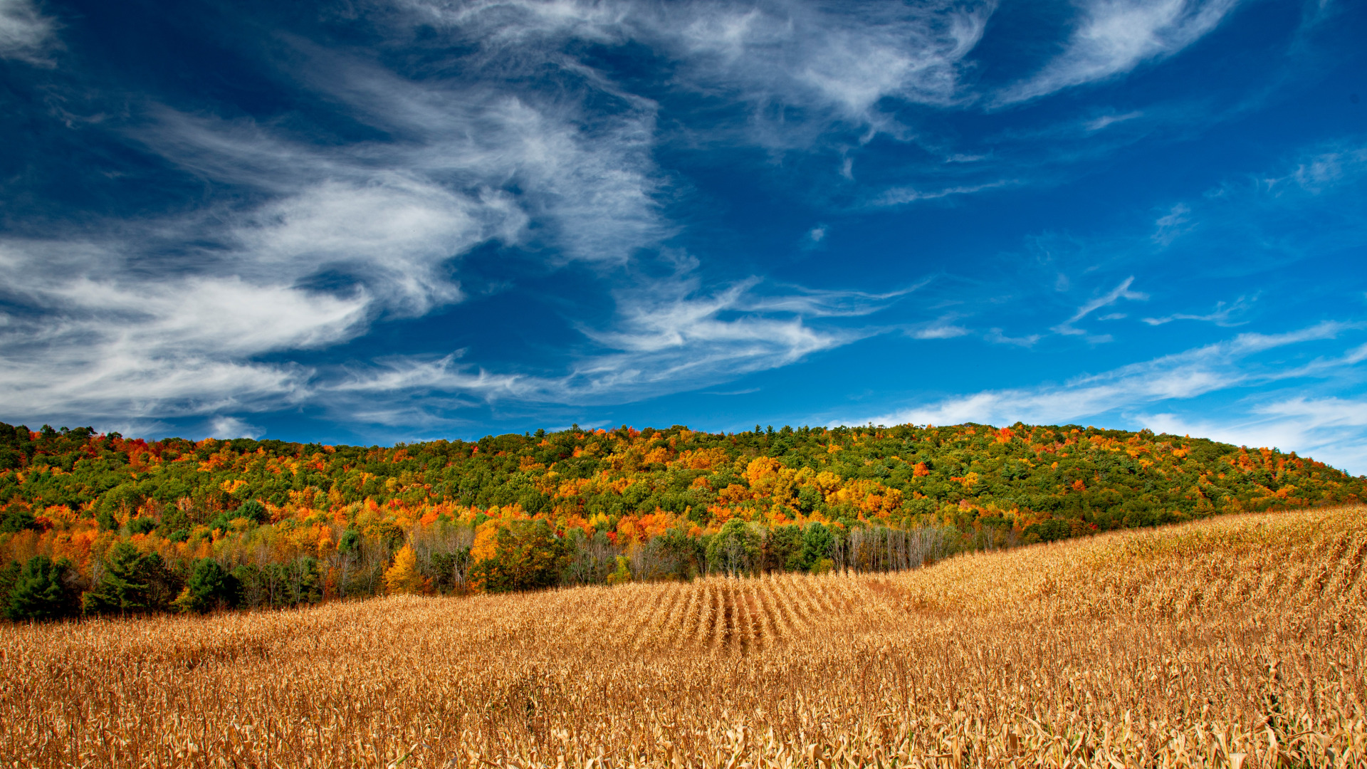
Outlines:
{"label": "bright dense white cloud at the left edge, low above the hill", "polygon": [[0,390],[11,413],[175,416],[279,404],[306,372],[256,354],[350,338],[365,319],[351,297],[182,275],[139,281],[97,244],[0,242],[0,283],[23,313],[3,313]]}

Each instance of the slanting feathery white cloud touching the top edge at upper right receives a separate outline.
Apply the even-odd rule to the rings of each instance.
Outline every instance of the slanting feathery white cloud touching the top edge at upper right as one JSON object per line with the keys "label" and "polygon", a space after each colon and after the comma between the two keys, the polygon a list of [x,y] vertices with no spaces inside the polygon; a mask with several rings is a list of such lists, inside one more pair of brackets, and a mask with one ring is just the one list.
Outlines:
{"label": "slanting feathery white cloud touching the top edge at upper right", "polygon": [[[1010,104],[1128,73],[1172,56],[1215,29],[1237,0],[1083,0],[1064,51],[1001,94]],[[1099,126],[1103,127],[1103,126]]]}

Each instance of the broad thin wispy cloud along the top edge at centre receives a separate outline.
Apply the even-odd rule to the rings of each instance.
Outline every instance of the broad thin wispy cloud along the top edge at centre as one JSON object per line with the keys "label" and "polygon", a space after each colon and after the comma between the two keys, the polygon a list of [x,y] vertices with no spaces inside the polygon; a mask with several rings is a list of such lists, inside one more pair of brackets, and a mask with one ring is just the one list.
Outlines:
{"label": "broad thin wispy cloud along the top edge at centre", "polygon": [[[485,49],[552,48],[578,37],[634,40],[678,62],[678,85],[753,107],[753,138],[805,145],[824,120],[891,130],[878,104],[893,97],[949,104],[960,62],[982,38],[995,1],[637,3],[630,0],[409,0],[414,18],[457,30]],[[804,108],[817,126],[783,114]]]}

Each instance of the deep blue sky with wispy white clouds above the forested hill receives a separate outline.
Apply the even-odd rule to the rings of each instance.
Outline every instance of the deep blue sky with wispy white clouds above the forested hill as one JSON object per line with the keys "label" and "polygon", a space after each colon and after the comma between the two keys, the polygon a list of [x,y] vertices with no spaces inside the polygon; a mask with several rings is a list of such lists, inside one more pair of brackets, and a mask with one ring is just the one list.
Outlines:
{"label": "deep blue sky with wispy white clouds above the forested hill", "polygon": [[0,420],[1367,473],[1367,5],[0,0]]}

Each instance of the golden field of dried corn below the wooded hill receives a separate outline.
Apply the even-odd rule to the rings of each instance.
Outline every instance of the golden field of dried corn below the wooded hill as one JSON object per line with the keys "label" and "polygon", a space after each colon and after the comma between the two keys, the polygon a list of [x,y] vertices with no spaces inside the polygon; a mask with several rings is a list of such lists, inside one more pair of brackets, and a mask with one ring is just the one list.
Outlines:
{"label": "golden field of dried corn below the wooded hill", "polygon": [[5,766],[1363,766],[1367,509],[0,628]]}

